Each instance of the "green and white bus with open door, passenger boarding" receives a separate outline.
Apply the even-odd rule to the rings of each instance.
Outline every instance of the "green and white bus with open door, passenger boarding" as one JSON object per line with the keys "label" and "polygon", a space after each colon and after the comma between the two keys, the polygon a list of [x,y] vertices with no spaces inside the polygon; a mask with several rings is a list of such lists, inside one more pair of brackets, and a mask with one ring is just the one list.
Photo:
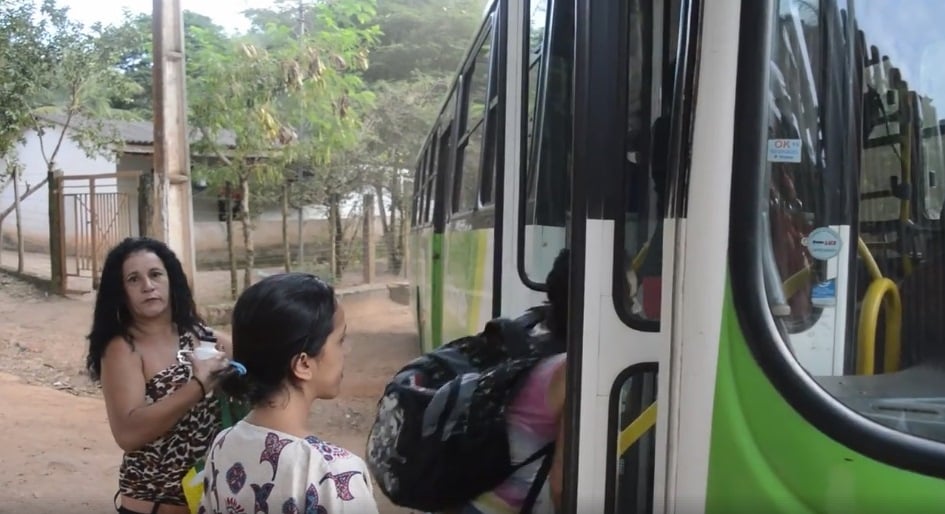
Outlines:
{"label": "green and white bus with open door, passenger boarding", "polygon": [[945,3],[497,0],[416,160],[429,351],[571,249],[566,512],[945,505]]}

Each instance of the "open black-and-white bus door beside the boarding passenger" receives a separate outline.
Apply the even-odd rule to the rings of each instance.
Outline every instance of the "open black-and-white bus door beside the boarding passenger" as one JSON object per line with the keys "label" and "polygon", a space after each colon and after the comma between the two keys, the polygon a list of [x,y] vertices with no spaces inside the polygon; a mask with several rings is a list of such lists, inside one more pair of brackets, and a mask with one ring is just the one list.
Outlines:
{"label": "open black-and-white bus door beside the boarding passenger", "polygon": [[565,512],[670,508],[697,3],[575,1]]}

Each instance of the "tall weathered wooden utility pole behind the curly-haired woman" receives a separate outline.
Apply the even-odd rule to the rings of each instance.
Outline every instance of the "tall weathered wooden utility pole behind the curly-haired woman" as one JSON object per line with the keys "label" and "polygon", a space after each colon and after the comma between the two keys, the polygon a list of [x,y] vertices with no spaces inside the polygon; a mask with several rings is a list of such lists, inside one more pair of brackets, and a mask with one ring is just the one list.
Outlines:
{"label": "tall weathered wooden utility pole behind the curly-haired woman", "polygon": [[153,237],[168,244],[193,287],[196,274],[190,145],[180,0],[154,0],[154,220]]}

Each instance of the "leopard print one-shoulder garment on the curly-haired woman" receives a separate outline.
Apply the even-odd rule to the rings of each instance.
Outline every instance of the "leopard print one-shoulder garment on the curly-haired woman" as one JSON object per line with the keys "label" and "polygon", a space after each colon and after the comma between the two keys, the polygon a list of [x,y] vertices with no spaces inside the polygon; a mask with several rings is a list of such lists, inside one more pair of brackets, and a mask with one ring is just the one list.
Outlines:
{"label": "leopard print one-shoulder garment on the curly-haired woman", "polygon": [[[193,348],[193,336],[182,335],[180,349]],[[183,387],[190,378],[187,364],[173,364],[158,372],[145,385],[148,404]],[[215,396],[200,400],[170,432],[139,450],[125,453],[118,472],[120,494],[136,500],[186,505],[181,480],[191,466],[206,456],[221,428],[219,401]]]}

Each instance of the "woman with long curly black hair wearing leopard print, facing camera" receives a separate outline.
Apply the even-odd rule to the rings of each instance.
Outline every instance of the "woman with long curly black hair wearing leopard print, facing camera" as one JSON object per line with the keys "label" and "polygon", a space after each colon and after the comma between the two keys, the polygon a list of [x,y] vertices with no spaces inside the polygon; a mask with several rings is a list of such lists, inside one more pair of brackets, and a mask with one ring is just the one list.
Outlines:
{"label": "woman with long curly black hair wearing leopard print, facing camera", "polygon": [[195,359],[195,339],[209,335],[167,245],[128,238],[109,252],[87,366],[101,382],[112,435],[125,451],[118,512],[189,514],[181,479],[220,429],[210,393],[229,353],[229,340],[217,334],[220,354]]}

